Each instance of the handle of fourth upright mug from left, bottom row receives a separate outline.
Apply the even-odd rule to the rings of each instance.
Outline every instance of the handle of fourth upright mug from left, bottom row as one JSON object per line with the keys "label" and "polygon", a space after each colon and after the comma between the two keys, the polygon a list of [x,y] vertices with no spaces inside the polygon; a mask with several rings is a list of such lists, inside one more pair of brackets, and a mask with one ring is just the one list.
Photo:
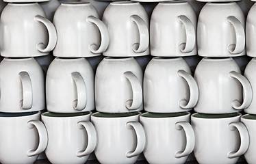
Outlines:
{"label": "handle of fourth upright mug from left, bottom row", "polygon": [[195,139],[193,128],[188,122],[177,122],[175,124],[175,128],[178,131],[181,131],[181,129],[183,129],[185,131],[185,138],[187,139],[185,150],[183,150],[183,152],[176,152],[175,157],[181,158],[183,156],[188,156],[194,150]]}

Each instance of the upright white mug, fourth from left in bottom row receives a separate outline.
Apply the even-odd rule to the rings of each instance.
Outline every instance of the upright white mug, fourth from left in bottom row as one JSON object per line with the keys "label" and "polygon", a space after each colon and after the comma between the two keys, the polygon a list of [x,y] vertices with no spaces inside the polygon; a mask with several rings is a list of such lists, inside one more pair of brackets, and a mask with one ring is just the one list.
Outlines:
{"label": "upright white mug, fourth from left in bottom row", "polygon": [[146,135],[143,154],[149,163],[185,163],[194,150],[190,113],[142,113]]}

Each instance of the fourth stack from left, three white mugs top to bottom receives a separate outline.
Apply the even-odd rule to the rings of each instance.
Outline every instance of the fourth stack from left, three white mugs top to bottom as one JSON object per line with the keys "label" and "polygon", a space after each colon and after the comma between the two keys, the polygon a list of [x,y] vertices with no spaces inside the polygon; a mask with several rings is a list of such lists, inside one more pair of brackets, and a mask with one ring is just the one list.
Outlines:
{"label": "fourth stack from left, three white mugs top to bottom", "polygon": [[144,72],[146,134],[144,156],[149,163],[185,163],[194,149],[190,110],[199,89],[183,59],[197,55],[197,16],[188,2],[160,2],[150,22],[151,55]]}

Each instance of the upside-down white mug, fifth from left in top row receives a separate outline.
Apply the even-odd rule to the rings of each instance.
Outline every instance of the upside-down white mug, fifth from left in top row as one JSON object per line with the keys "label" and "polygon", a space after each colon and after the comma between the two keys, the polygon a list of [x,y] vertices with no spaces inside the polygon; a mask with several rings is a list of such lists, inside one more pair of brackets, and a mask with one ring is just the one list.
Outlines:
{"label": "upside-down white mug, fifth from left in top row", "polygon": [[235,2],[206,3],[197,25],[198,53],[203,57],[246,55],[244,13]]}

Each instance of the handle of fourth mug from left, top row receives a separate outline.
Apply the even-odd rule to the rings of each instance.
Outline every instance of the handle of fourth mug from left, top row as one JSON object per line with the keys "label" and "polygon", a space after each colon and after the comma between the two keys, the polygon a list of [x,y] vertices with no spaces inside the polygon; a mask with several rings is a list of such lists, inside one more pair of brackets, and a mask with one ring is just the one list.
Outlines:
{"label": "handle of fourth mug from left, top row", "polygon": [[178,20],[184,25],[186,36],[186,42],[179,44],[179,50],[182,53],[190,53],[193,51],[194,45],[196,44],[196,32],[194,31],[194,26],[187,16],[178,16]]}

